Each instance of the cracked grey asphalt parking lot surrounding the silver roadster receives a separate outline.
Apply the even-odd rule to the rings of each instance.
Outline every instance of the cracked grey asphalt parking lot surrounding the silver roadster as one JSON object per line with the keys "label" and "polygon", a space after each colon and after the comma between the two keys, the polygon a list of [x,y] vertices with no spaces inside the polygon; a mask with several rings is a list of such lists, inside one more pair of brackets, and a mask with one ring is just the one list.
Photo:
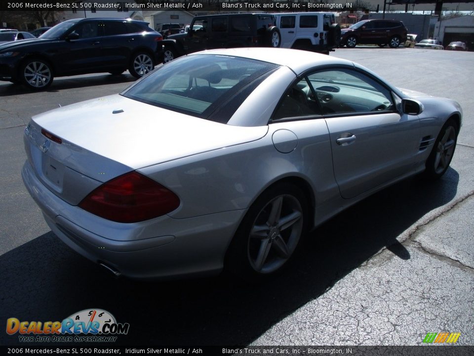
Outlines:
{"label": "cracked grey asphalt parking lot surrounding the silver roadster", "polygon": [[[257,285],[114,279],[70,250],[23,186],[24,127],[32,115],[117,93],[133,78],[57,78],[38,93],[0,82],[0,323],[96,308],[130,324],[121,345],[421,345],[428,332],[461,333],[458,345],[474,345],[474,52],[330,55],[397,87],[457,100],[456,153],[439,181],[398,183],[320,226],[283,274]],[[0,345],[19,344],[0,332]]]}

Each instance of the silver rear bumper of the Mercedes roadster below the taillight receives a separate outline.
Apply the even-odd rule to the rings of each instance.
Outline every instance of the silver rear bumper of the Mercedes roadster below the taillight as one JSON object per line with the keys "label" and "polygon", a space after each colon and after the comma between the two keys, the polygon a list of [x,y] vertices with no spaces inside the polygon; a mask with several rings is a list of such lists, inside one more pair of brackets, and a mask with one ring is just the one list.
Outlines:
{"label": "silver rear bumper of the Mercedes roadster below the taillight", "polygon": [[[218,272],[245,210],[188,219],[162,216],[141,223],[115,223],[70,205],[36,177],[27,161],[22,178],[51,230],[87,259],[132,278],[162,278]],[[150,237],[152,236],[152,237]]]}

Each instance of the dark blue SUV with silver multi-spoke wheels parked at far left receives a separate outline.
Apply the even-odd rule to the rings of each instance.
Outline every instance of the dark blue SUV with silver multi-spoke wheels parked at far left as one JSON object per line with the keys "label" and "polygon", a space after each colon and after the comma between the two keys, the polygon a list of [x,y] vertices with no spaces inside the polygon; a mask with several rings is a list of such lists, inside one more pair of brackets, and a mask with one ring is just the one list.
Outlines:
{"label": "dark blue SUV with silver multi-spoke wheels parked at far left", "polygon": [[45,89],[54,77],[86,73],[140,78],[153,70],[162,36],[148,23],[88,18],[64,21],[40,38],[0,45],[0,80]]}

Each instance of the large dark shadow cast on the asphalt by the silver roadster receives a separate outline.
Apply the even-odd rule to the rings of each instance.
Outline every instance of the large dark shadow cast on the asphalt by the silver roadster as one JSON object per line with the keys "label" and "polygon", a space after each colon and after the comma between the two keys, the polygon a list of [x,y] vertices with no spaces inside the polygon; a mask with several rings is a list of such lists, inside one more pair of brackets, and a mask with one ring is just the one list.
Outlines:
{"label": "large dark shadow cast on the asphalt by the silver roadster", "polygon": [[[0,257],[0,320],[62,321],[95,308],[130,324],[119,345],[247,345],[384,247],[409,259],[397,237],[452,201],[458,181],[450,168],[439,181],[412,178],[374,194],[311,232],[282,273],[257,284],[115,279],[49,232]],[[0,333],[0,344],[18,344],[18,334]]]}

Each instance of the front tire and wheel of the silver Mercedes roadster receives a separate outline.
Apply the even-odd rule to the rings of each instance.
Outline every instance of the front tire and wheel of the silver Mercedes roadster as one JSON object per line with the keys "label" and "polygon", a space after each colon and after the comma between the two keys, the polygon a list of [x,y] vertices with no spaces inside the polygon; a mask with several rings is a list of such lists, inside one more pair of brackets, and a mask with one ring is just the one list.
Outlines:
{"label": "front tire and wheel of the silver Mercedes roadster", "polygon": [[454,119],[449,119],[443,125],[426,160],[425,178],[438,179],[447,171],[456,149],[458,130],[458,124]]}

